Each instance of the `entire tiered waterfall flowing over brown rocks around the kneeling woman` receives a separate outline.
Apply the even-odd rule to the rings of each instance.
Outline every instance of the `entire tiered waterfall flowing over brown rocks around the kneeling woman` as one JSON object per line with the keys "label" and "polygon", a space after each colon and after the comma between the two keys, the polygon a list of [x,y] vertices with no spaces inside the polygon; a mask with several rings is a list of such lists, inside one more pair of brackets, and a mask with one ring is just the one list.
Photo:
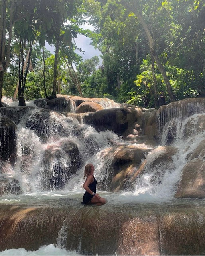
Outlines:
{"label": "entire tiered waterfall flowing over brown rocks around the kneeling woman", "polygon": [[[109,107],[107,101],[104,104]],[[177,107],[176,104],[162,106],[156,114],[160,145],[155,147],[144,143],[130,146],[130,142],[111,131],[97,132],[82,122],[81,114],[43,110],[32,106],[32,102],[26,108],[2,108],[0,117],[8,117],[16,125],[16,151],[15,161],[0,162],[0,203],[4,212],[0,215],[4,232],[1,248],[13,248],[9,241],[17,240],[15,248],[22,246],[29,251],[12,249],[8,253],[32,255],[30,250],[38,249],[36,253],[41,255],[114,255],[115,252],[177,255],[181,252],[174,247],[177,240],[183,241],[183,248],[188,248],[182,234],[187,232],[187,237],[193,234],[187,243],[191,244],[191,239],[196,237],[198,244],[191,244],[191,249],[184,249],[183,253],[191,254],[192,248],[195,248],[193,254],[204,252],[201,230],[205,215],[200,208],[204,201],[178,203],[174,199],[189,156],[205,139],[204,106],[200,101],[186,105],[179,102],[181,105]],[[113,160],[119,147],[128,146],[130,152],[133,148],[143,149],[144,158],[141,163],[132,163],[133,174],[126,169],[125,184],[132,183],[129,191],[109,192],[116,175]],[[202,155],[199,157],[204,159]],[[129,165],[129,159],[117,164]],[[95,166],[95,178],[101,190],[98,191],[108,200],[101,208],[81,205],[87,163]],[[142,172],[132,181],[140,168]],[[178,210],[178,204],[185,208],[185,214],[181,208]],[[7,230],[6,222],[9,229],[14,223],[11,228],[14,234]],[[169,233],[172,228],[173,234]],[[25,241],[18,243],[19,237],[22,240],[26,237]],[[170,244],[168,238],[172,239]],[[47,246],[42,247],[43,244]]]}

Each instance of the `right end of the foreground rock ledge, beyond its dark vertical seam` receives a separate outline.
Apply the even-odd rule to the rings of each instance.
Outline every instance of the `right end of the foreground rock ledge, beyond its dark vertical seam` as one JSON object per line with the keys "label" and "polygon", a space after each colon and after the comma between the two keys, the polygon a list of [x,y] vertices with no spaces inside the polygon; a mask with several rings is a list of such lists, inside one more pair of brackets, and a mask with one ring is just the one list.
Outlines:
{"label": "right end of the foreground rock ledge, beyond its dark vertical seam", "polygon": [[[159,218],[160,255],[205,254],[205,209],[173,209]],[[200,232],[199,232],[200,230]]]}

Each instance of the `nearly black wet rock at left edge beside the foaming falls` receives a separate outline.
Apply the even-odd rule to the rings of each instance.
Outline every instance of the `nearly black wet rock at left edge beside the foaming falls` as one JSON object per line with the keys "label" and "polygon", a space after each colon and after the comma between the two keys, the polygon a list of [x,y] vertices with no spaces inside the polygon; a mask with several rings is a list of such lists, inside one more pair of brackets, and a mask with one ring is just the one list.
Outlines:
{"label": "nearly black wet rock at left edge beside the foaming falls", "polygon": [[0,158],[9,160],[15,153],[16,125],[8,118],[0,118]]}

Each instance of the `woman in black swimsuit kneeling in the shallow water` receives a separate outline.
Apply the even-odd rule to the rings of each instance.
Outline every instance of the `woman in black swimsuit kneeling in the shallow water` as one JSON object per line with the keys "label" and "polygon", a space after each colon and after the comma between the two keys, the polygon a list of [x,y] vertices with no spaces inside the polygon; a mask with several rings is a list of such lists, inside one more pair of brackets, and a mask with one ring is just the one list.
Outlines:
{"label": "woman in black swimsuit kneeling in the shallow water", "polygon": [[86,180],[83,184],[83,188],[85,188],[85,194],[83,195],[83,202],[81,204],[96,204],[103,205],[106,203],[106,200],[96,194],[96,184],[97,181],[93,176],[94,166],[93,164],[87,164],[85,166],[84,177]]}

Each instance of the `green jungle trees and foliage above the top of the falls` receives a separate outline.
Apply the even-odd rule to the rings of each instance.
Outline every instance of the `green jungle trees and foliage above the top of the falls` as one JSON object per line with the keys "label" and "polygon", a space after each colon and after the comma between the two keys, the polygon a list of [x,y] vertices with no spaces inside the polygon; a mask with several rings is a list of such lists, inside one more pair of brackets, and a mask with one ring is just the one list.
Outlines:
{"label": "green jungle trees and foliage above the top of the falls", "polygon": [[[100,56],[83,60],[78,34]],[[205,96],[203,0],[0,0],[0,105],[68,94],[157,108],[160,91]]]}

